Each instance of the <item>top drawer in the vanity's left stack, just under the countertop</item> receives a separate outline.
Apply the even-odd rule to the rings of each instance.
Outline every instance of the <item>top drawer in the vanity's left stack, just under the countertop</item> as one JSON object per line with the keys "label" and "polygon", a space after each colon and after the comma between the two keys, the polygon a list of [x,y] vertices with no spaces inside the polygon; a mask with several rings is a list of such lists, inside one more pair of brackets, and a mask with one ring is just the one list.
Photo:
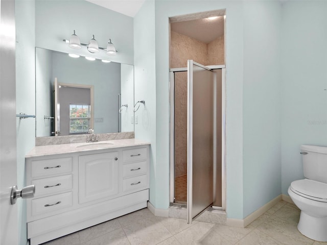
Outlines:
{"label": "top drawer in the vanity's left stack, just under the countertop", "polygon": [[32,177],[56,175],[72,171],[73,158],[56,158],[31,162]]}

